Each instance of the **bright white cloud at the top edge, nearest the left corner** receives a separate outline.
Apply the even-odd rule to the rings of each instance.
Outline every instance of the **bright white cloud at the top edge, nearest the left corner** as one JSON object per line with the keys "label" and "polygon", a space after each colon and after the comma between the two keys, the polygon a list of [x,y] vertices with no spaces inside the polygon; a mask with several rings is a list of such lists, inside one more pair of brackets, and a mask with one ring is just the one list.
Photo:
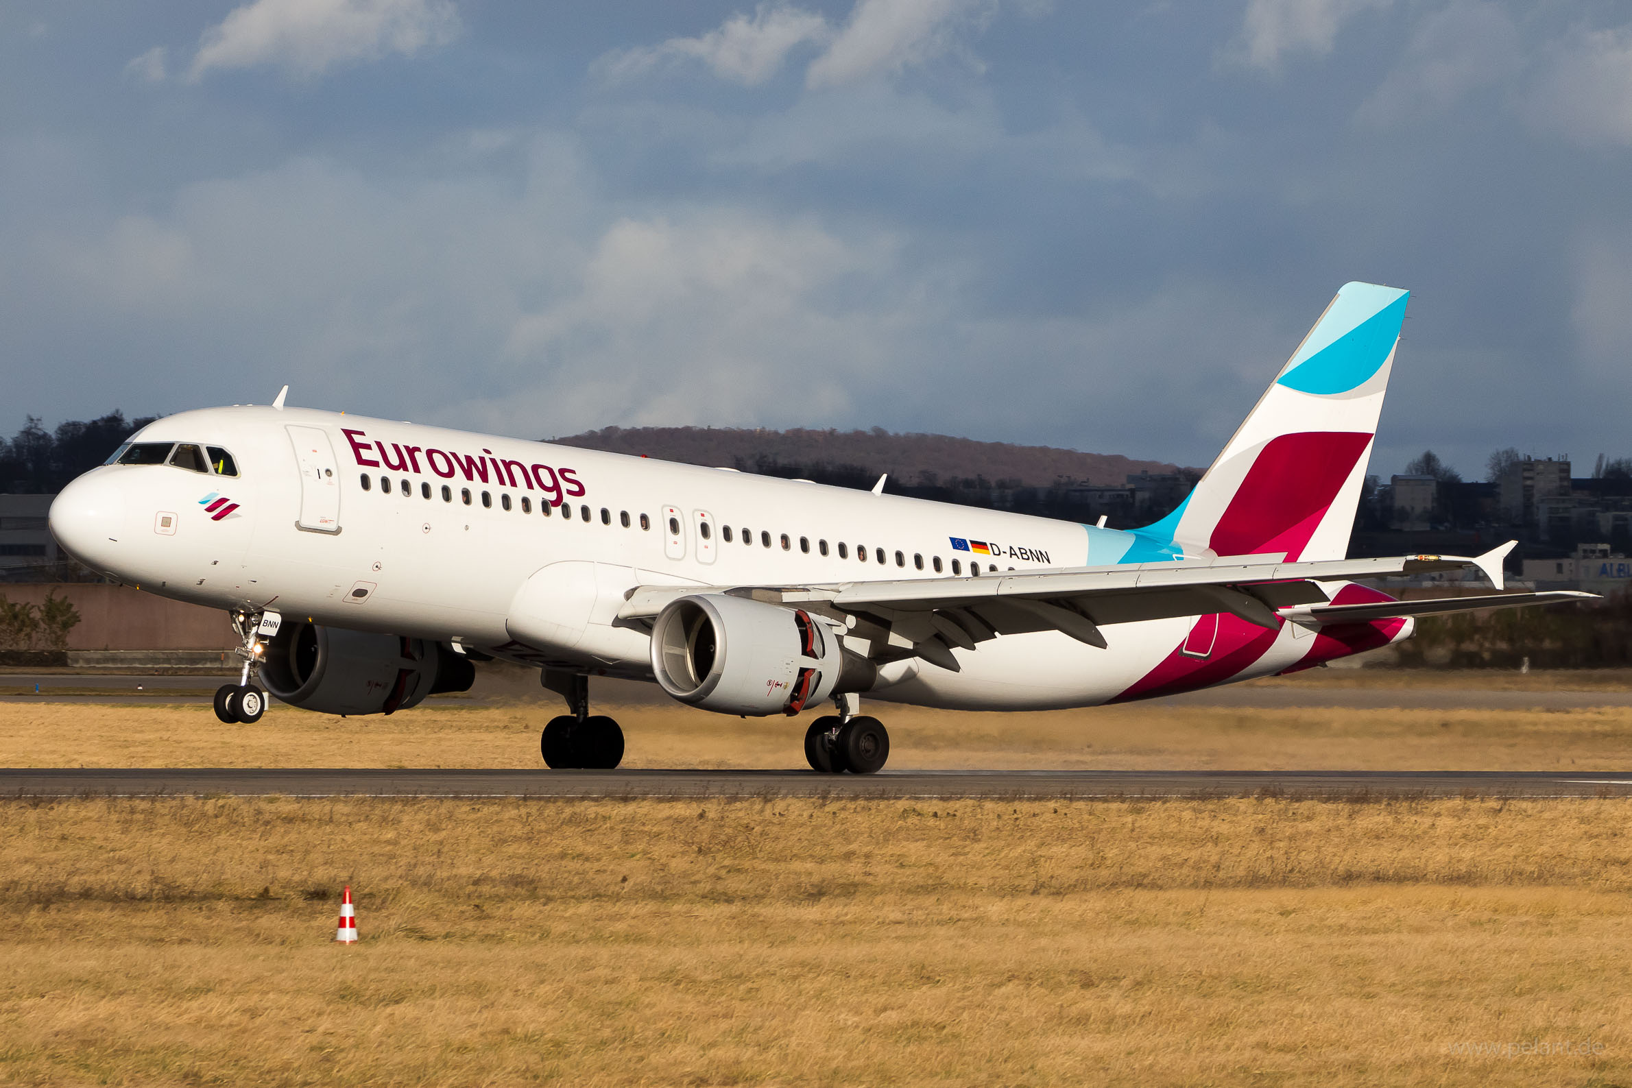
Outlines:
{"label": "bright white cloud at the top edge, nearest the left corner", "polygon": [[313,77],[349,60],[411,57],[459,31],[450,0],[253,0],[204,31],[188,77],[256,65]]}

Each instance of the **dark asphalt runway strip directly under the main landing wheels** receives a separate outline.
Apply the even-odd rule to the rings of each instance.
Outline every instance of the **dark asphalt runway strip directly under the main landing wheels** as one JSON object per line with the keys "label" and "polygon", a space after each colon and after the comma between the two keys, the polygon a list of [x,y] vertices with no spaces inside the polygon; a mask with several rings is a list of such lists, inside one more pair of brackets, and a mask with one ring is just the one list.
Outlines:
{"label": "dark asphalt runway strip directly under the main landing wheels", "polygon": [[1289,796],[1599,798],[1632,796],[1632,772],[1232,772],[1232,770],[886,770],[818,775],[808,770],[0,770],[0,798],[878,798],[878,799],[1111,799]]}

